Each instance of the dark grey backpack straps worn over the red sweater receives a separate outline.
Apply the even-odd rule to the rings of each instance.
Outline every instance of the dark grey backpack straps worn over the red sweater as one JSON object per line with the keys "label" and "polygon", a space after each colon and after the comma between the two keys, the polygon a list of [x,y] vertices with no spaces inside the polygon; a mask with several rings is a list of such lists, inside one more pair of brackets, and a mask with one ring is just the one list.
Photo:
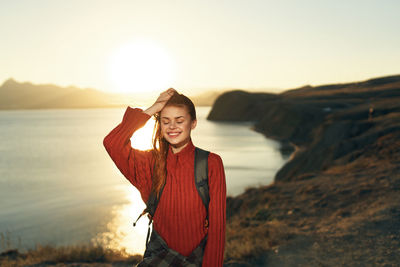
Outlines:
{"label": "dark grey backpack straps worn over the red sweater", "polygon": [[[210,195],[209,195],[209,188],[208,188],[208,155],[209,151],[203,150],[201,148],[195,147],[194,152],[194,179],[196,184],[197,192],[203,204],[206,208],[206,220],[205,220],[205,227],[208,227],[208,204],[210,203]],[[154,165],[155,167],[155,165]],[[154,173],[154,172],[153,172]],[[150,196],[146,203],[146,208],[143,212],[139,215],[136,221],[133,223],[133,226],[136,226],[136,222],[140,219],[140,217],[146,213],[148,213],[149,217],[149,224],[147,230],[147,237],[146,237],[146,249],[148,248],[149,244],[149,236],[150,236],[150,224],[153,222],[153,216],[157,209],[157,205],[159,199],[161,198],[162,191],[164,189],[165,183],[161,188],[159,198],[157,198],[156,194],[151,191]],[[153,229],[154,230],[154,229]]]}

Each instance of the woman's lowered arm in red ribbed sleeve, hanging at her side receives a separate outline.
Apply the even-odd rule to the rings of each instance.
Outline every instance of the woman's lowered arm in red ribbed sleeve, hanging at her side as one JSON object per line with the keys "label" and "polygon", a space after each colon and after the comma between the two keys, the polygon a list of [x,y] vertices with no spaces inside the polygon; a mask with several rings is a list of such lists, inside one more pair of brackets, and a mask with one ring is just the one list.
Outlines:
{"label": "woman's lowered arm in red ribbed sleeve, hanging at her side", "polygon": [[222,159],[215,153],[208,157],[210,203],[209,227],[202,266],[223,265],[226,228],[226,180]]}

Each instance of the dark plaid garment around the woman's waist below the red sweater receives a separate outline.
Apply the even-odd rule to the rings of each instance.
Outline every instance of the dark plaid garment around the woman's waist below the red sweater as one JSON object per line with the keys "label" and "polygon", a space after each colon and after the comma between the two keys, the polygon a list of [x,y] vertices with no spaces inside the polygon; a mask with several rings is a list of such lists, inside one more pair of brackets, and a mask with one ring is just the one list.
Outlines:
{"label": "dark plaid garment around the woman's waist below the red sweater", "polygon": [[201,267],[206,243],[207,235],[201,240],[200,244],[192,253],[188,257],[185,257],[176,250],[169,248],[165,240],[153,229],[150,241],[143,255],[143,260],[135,266]]}

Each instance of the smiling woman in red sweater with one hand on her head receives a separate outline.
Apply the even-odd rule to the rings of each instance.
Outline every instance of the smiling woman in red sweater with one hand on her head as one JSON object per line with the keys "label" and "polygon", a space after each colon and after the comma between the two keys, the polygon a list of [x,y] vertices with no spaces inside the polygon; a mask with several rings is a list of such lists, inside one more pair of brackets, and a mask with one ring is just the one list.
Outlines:
{"label": "smiling woman in red sweater with one hand on her head", "polygon": [[[153,115],[156,119],[153,149],[133,149],[131,136]],[[195,146],[190,134],[196,124],[192,101],[170,88],[144,111],[128,106],[122,122],[104,138],[103,144],[118,169],[139,190],[145,203],[152,190],[160,196],[152,218],[153,230],[168,247],[189,257],[207,235],[201,266],[222,266],[226,224],[225,171],[221,157],[210,152],[210,202],[206,227],[207,212],[194,182]]]}

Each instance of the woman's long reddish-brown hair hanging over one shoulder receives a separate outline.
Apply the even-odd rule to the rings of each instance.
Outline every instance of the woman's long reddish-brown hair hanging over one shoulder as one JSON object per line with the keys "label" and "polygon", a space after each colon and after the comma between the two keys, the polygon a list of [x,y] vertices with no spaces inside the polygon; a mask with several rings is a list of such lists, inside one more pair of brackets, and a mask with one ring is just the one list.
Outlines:
{"label": "woman's long reddish-brown hair hanging over one shoulder", "polygon": [[[185,95],[174,92],[165,106],[186,107],[192,121],[196,120],[196,109],[193,102]],[[153,129],[153,156],[155,159],[155,170],[152,177],[152,191],[160,196],[162,186],[167,179],[167,155],[169,149],[168,141],[161,134],[161,111],[154,114],[156,123]]]}

